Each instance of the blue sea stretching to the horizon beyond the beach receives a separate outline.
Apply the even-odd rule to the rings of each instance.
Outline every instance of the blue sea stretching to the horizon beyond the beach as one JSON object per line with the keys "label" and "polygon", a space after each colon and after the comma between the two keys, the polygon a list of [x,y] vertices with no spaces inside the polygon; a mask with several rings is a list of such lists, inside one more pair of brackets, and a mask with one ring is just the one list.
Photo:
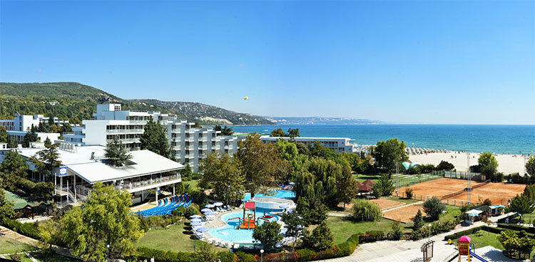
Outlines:
{"label": "blue sea stretching to the horizon beyond the beach", "polygon": [[302,137],[350,137],[361,145],[374,145],[391,137],[408,147],[532,154],[535,152],[535,125],[245,125],[235,132],[269,134],[276,128],[285,132],[299,128]]}

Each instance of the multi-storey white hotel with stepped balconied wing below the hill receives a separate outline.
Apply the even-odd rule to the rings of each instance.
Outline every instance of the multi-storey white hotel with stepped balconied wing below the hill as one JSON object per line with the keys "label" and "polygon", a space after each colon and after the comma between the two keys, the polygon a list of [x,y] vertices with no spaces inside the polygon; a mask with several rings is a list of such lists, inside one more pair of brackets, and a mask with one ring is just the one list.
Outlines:
{"label": "multi-storey white hotel with stepped balconied wing below the hill", "polygon": [[140,150],[139,137],[149,118],[159,120],[167,128],[168,141],[175,158],[181,164],[189,164],[193,172],[198,172],[199,160],[210,152],[234,154],[238,148],[238,138],[221,136],[213,128],[193,127],[186,120],[177,120],[175,115],[157,111],[134,112],[121,110],[120,104],[99,104],[94,120],[83,120],[82,127],[73,127],[71,134],[63,134],[65,142],[79,145],[106,145],[118,137],[130,150]]}

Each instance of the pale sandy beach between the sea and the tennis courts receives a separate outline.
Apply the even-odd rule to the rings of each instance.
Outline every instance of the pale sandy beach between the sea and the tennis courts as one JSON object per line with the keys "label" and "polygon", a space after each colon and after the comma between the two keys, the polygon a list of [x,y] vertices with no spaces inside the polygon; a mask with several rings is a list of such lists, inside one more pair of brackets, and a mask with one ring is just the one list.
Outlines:
{"label": "pale sandy beach between the sea and the tennis courts", "polygon": [[[479,158],[479,154],[477,153],[447,152],[412,154],[409,155],[409,159],[412,162],[419,162],[420,164],[434,165],[437,165],[440,163],[440,161],[444,160],[452,163],[457,171],[467,171],[467,154],[470,154],[469,164],[471,166],[477,164],[477,159]],[[494,157],[496,157],[496,160],[498,160],[498,172],[503,172],[506,175],[514,172],[524,174],[524,159],[522,159],[521,155],[515,156],[514,154],[495,154]]]}

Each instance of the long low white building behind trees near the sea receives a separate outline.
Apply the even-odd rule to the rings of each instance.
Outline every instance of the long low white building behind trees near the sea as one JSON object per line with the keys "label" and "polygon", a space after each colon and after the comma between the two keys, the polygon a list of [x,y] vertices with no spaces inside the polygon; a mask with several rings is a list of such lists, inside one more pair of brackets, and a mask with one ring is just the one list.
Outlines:
{"label": "long low white building behind trees near the sea", "polygon": [[[277,140],[290,140],[290,137],[270,137],[269,135],[263,135],[260,140],[267,144],[269,142],[277,142]],[[351,142],[348,137],[294,137],[295,142],[302,143],[307,147],[312,147],[314,142],[320,142],[324,147],[335,150],[336,152],[348,152],[358,153],[360,152],[359,146]]]}

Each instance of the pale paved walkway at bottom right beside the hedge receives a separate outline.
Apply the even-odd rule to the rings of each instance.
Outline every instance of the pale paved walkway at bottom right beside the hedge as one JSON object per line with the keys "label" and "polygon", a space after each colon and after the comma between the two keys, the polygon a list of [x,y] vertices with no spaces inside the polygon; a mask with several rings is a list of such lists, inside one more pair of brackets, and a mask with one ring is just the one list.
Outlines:
{"label": "pale paved walkway at bottom right beside the hedge", "polygon": [[[444,236],[454,234],[459,231],[471,229],[476,226],[483,226],[484,223],[479,221],[472,226],[459,226],[457,229],[449,231],[444,234],[432,236],[431,240],[434,242],[434,258],[432,261],[443,261],[455,251],[454,245],[447,245],[444,240]],[[364,243],[357,247],[351,256],[345,256],[342,258],[332,258],[324,261],[328,262],[409,262],[409,261],[422,261],[422,251],[420,247],[427,242],[427,238],[419,241],[377,241],[374,243]]]}

